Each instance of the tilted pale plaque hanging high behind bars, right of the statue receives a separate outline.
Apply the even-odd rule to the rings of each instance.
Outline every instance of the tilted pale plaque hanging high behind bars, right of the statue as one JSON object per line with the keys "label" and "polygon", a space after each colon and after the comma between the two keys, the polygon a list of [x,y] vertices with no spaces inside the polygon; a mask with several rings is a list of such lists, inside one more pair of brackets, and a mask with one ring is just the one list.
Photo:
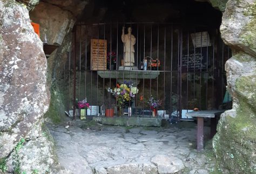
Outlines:
{"label": "tilted pale plaque hanging high behind bars, right of the statue", "polygon": [[192,33],[191,38],[193,41],[193,45],[196,48],[212,46],[208,32]]}

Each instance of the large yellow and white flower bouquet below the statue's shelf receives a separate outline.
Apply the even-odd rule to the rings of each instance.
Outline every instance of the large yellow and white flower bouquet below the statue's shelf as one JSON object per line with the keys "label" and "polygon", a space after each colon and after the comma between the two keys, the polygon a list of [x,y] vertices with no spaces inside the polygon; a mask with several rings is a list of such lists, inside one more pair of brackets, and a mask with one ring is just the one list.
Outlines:
{"label": "large yellow and white flower bouquet below the statue's shelf", "polygon": [[108,88],[107,91],[112,93],[116,98],[119,115],[122,114],[122,108],[125,103],[130,102],[130,100],[139,92],[137,87],[133,87],[132,84],[129,83],[117,84],[116,88]]}

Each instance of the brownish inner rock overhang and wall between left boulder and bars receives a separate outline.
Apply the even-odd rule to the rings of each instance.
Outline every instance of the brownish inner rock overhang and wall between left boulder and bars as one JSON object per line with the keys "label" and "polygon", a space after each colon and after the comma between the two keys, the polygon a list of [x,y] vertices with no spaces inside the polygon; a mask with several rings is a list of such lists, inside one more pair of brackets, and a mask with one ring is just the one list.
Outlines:
{"label": "brownish inner rock overhang and wall between left boulder and bars", "polygon": [[[46,0],[41,1],[30,12],[30,18],[40,25],[41,40],[50,45],[59,45],[47,60],[51,103],[45,117],[51,118],[53,122],[66,119],[64,106],[67,104],[64,102],[70,101],[68,93],[63,92],[63,84],[66,84],[63,82],[64,65],[69,58],[72,27],[87,3],[82,0]],[[63,36],[63,41],[59,42],[57,38],[61,38],[60,35]]]}

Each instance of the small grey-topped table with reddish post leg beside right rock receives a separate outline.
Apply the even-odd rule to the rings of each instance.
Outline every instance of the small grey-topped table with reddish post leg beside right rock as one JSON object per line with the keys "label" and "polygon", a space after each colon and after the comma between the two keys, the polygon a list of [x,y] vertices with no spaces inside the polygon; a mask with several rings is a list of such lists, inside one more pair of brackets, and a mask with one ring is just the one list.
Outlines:
{"label": "small grey-topped table with reddish post leg beside right rock", "polygon": [[211,118],[211,136],[216,133],[217,116],[225,110],[205,110],[187,112],[186,117],[197,117],[197,150],[204,149],[204,118]]}

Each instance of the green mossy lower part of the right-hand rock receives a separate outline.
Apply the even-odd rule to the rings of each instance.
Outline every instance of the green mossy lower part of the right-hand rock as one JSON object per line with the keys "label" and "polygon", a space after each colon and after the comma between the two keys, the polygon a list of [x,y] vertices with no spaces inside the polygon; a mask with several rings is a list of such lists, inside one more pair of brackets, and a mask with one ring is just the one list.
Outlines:
{"label": "green mossy lower part of the right-hand rock", "polygon": [[235,83],[238,107],[221,115],[213,147],[220,166],[231,173],[256,173],[256,75]]}

